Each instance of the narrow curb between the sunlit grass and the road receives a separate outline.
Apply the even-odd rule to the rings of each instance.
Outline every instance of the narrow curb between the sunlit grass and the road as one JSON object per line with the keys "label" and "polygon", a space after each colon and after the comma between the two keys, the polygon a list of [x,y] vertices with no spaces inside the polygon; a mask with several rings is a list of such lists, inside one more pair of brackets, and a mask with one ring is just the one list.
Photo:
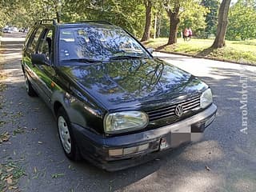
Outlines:
{"label": "narrow curb between the sunlit grass and the road", "polygon": [[218,61],[218,62],[230,62],[230,63],[240,64],[240,65],[245,65],[245,66],[256,66],[256,63],[237,62],[237,61],[232,61],[232,60],[225,59],[225,58],[207,58],[207,57],[202,57],[202,56],[198,56],[198,55],[194,55],[194,54],[184,54],[184,53],[177,53],[177,52],[172,52],[172,51],[168,52],[168,51],[164,51],[164,50],[157,50],[155,52],[159,52],[159,53],[163,53],[163,54],[177,54],[177,55],[182,55],[182,56],[191,57],[191,58],[205,58],[205,59],[214,60],[214,61]]}

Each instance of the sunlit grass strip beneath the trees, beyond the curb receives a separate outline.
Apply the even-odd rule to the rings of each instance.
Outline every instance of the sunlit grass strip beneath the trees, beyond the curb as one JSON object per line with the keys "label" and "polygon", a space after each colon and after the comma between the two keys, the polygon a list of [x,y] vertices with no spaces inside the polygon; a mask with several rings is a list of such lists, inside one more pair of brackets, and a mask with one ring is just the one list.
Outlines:
{"label": "sunlit grass strip beneath the trees, beyond the curb", "polygon": [[256,65],[256,40],[226,40],[226,46],[218,50],[209,49],[209,47],[213,44],[214,39],[192,38],[189,42],[184,42],[182,38],[178,38],[177,44],[170,46],[166,46],[167,41],[167,38],[157,38],[144,42],[143,44],[146,47],[152,47],[157,51],[189,54],[194,56],[202,56],[205,58],[218,58]]}

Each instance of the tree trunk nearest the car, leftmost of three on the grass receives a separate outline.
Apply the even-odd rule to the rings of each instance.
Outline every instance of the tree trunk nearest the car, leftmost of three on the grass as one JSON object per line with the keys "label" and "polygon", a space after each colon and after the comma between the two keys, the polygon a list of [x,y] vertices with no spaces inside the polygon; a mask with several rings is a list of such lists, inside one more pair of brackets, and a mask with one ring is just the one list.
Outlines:
{"label": "tree trunk nearest the car, leftmost of three on the grass", "polygon": [[146,23],[145,23],[144,33],[142,36],[142,42],[148,41],[150,39],[151,10],[152,10],[151,0],[144,0],[144,4],[146,6]]}

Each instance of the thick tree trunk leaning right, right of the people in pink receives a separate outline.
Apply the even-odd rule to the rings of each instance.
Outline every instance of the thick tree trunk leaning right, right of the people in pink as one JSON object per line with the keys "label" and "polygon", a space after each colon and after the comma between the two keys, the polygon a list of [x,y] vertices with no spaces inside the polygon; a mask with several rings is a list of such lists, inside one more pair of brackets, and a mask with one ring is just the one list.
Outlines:
{"label": "thick tree trunk leaning right, right of the people in pink", "polygon": [[228,23],[227,16],[230,10],[230,2],[231,0],[222,0],[222,4],[219,7],[217,35],[211,48],[218,49],[225,46],[225,34]]}

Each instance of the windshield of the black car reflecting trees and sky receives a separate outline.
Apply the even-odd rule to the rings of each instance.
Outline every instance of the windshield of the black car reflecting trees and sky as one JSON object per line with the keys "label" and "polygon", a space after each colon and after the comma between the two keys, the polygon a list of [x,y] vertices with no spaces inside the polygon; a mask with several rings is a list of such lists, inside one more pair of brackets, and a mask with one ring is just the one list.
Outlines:
{"label": "windshield of the black car reflecting trees and sky", "polygon": [[61,61],[107,61],[148,58],[146,50],[127,34],[113,27],[84,26],[62,28],[59,39]]}

